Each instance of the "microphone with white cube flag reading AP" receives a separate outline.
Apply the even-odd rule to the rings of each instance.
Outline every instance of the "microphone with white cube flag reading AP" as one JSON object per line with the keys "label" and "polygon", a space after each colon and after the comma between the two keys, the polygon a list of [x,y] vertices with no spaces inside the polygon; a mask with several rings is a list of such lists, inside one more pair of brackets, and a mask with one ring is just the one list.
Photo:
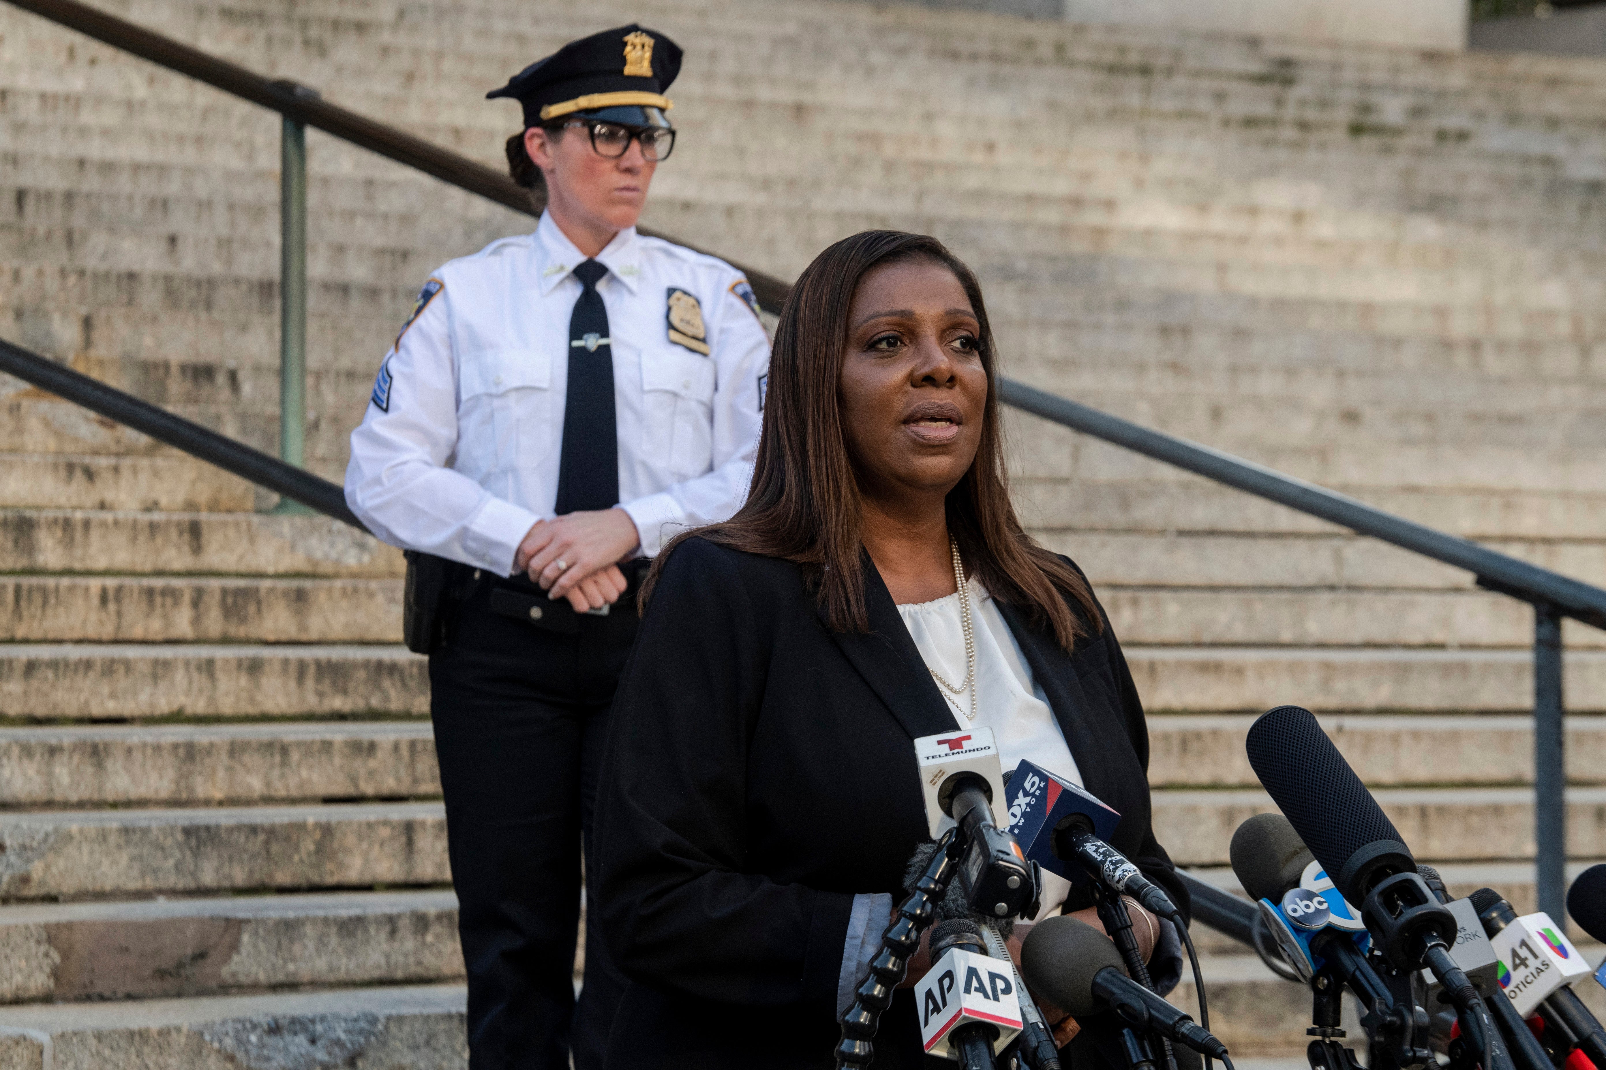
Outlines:
{"label": "microphone with white cube flag reading AP", "polygon": [[965,918],[931,929],[931,959],[935,966],[914,988],[925,1052],[952,1059],[965,1070],[994,1070],[994,1051],[1021,1027],[1013,971],[997,967],[981,929]]}

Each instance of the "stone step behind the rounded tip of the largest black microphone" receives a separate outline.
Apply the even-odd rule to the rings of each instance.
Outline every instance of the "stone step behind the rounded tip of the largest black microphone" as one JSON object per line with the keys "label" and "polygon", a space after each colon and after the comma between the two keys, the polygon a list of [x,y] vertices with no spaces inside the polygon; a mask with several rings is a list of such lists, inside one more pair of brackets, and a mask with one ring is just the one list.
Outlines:
{"label": "stone step behind the rounded tip of the largest black microphone", "polygon": [[[1457,714],[1323,715],[1333,743],[1373,788],[1534,783],[1534,719]],[[1245,756],[1254,714],[1166,714],[1148,719],[1148,783],[1155,788],[1257,788]],[[1567,719],[1567,778],[1606,786],[1606,717]]]}

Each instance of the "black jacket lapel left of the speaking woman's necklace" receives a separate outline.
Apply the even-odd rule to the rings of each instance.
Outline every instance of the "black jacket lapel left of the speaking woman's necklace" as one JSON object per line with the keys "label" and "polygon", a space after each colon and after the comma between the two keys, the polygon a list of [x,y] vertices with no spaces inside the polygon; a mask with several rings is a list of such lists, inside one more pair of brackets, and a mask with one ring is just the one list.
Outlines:
{"label": "black jacket lapel left of the speaking woman's necklace", "polygon": [[[931,680],[920,650],[909,637],[898,606],[893,603],[882,574],[869,555],[864,557],[864,603],[870,616],[869,632],[825,632],[837,642],[864,682],[887,703],[911,740],[952,732],[957,725]],[[816,610],[825,622],[824,610]]]}

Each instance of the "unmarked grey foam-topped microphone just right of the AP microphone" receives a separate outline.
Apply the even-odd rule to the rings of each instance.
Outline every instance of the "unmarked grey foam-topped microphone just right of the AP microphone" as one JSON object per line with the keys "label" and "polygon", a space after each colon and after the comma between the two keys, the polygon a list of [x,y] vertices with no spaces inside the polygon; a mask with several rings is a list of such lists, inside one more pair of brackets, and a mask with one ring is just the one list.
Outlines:
{"label": "unmarked grey foam-topped microphone just right of the AP microphone", "polygon": [[1020,972],[1033,991],[1074,1017],[1115,1011],[1139,1030],[1155,1030],[1193,1051],[1227,1057],[1227,1046],[1126,975],[1121,951],[1110,937],[1076,918],[1049,918],[1026,934]]}

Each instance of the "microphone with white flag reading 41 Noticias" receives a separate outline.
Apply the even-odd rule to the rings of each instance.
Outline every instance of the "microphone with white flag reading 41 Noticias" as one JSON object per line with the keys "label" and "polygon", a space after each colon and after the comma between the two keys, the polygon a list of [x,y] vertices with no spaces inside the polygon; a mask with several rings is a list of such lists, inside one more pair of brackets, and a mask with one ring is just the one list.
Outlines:
{"label": "microphone with white flag reading 41 Noticias", "polygon": [[1518,918],[1494,889],[1478,889],[1469,898],[1500,958],[1500,988],[1516,1012],[1526,1019],[1537,1011],[1545,1038],[1561,1036],[1566,1049],[1579,1048],[1596,1067],[1606,1067],[1606,1031],[1567,987],[1590,966],[1561,927],[1543,911]]}

